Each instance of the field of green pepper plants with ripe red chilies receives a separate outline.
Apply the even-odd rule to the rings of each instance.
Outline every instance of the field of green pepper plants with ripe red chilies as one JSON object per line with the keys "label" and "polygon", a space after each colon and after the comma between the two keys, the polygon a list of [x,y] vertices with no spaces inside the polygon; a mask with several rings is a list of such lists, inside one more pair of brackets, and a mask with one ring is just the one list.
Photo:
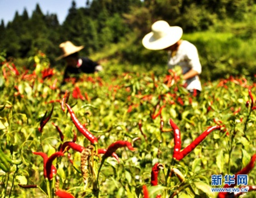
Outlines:
{"label": "field of green pepper plants with ripe red chilies", "polygon": [[[256,196],[255,77],[207,82],[200,96],[171,70],[60,87],[47,57],[34,60],[34,71],[1,63],[0,197]],[[224,184],[240,174],[246,185]],[[250,192],[212,192],[224,185]]]}

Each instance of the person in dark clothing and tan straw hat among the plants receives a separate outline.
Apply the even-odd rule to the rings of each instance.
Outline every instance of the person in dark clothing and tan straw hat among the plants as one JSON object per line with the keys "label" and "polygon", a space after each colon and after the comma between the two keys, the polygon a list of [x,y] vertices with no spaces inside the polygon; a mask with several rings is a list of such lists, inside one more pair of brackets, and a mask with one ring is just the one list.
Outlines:
{"label": "person in dark clothing and tan straw hat among the plants", "polygon": [[71,41],[65,41],[59,45],[63,54],[56,58],[60,60],[64,58],[67,62],[67,68],[64,72],[62,85],[65,83],[65,79],[69,77],[69,74],[80,74],[80,73],[94,73],[97,71],[102,71],[103,68],[97,62],[90,60],[87,57],[79,57],[79,51],[84,48],[84,46],[75,46]]}

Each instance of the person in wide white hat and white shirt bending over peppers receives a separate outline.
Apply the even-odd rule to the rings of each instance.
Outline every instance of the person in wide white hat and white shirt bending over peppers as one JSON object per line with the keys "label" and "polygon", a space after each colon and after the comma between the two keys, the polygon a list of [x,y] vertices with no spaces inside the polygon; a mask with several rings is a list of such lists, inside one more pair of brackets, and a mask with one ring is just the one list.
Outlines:
{"label": "person in wide white hat and white shirt bending over peppers", "polygon": [[151,50],[166,50],[168,52],[168,69],[180,66],[184,87],[193,94],[200,94],[202,87],[199,79],[201,64],[195,45],[181,40],[183,30],[178,26],[169,26],[164,20],[152,24],[151,32],[144,36],[142,44]]}

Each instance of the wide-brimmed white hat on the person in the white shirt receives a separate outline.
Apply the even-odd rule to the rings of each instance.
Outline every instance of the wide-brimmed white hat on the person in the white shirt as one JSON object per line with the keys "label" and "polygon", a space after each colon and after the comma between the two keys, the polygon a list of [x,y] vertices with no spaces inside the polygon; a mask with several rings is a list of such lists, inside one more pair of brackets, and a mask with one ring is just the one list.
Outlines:
{"label": "wide-brimmed white hat on the person in the white shirt", "polygon": [[159,50],[168,48],[180,40],[183,30],[179,26],[169,26],[164,20],[158,20],[151,26],[151,32],[142,39],[145,48]]}

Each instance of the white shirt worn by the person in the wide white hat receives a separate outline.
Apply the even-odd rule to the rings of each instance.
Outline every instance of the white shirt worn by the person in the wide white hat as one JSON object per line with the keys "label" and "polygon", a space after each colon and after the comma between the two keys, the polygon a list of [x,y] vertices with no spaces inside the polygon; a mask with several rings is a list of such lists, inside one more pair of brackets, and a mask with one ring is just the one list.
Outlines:
{"label": "white shirt worn by the person in the wide white hat", "polygon": [[[171,57],[170,52],[168,57],[168,68],[174,69],[176,65],[179,65],[181,67],[183,74],[187,73],[191,69],[201,74],[202,67],[195,45],[189,43],[188,41],[181,40],[181,44],[179,45],[176,54]],[[202,90],[201,82],[198,75],[193,78],[187,79],[185,83],[187,83],[187,90]]]}

